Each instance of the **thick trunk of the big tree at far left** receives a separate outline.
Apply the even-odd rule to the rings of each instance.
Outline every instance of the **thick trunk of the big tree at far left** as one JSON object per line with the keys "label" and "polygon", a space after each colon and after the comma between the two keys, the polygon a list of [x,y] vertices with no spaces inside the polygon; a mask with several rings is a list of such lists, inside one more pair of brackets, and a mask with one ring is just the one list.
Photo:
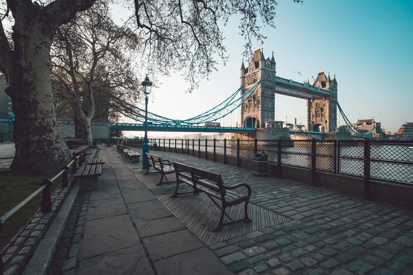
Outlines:
{"label": "thick trunk of the big tree at far left", "polygon": [[16,114],[11,170],[14,175],[52,175],[71,159],[57,128],[50,85],[55,30],[34,19],[16,23],[13,31],[13,74],[6,90]]}

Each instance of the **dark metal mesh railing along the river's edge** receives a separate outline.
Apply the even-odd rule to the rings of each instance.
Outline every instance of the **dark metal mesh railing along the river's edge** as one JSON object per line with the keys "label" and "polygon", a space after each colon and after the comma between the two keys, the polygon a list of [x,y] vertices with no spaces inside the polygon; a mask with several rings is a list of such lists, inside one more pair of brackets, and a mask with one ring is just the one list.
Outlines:
{"label": "dark metal mesh railing along the river's edge", "polygon": [[[123,139],[127,146],[141,147],[142,139]],[[413,141],[399,140],[169,140],[149,139],[151,149],[196,155],[216,162],[217,155],[252,159],[264,151],[268,162],[317,171],[363,177],[366,197],[370,181],[413,186]],[[179,152],[178,152],[179,149]],[[314,183],[314,178],[313,178]]]}

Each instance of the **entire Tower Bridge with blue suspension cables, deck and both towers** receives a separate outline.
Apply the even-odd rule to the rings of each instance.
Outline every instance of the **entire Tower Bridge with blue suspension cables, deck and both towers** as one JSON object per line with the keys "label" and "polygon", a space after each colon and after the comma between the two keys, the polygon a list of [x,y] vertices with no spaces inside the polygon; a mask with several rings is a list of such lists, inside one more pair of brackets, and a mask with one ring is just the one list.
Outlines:
{"label": "entire Tower Bridge with blue suspension cables, deck and both towers", "polygon": [[[326,76],[323,69],[320,69],[313,84],[310,84],[309,80],[299,83],[277,76],[276,68],[274,53],[271,58],[265,58],[263,50],[257,47],[247,67],[242,61],[240,88],[229,98],[209,109],[209,111],[185,120],[165,118],[156,113],[148,112],[147,128],[149,131],[225,132],[238,133],[244,136],[253,133],[255,137],[259,137],[261,133],[264,133],[260,136],[263,139],[273,139],[288,134],[306,134],[311,137],[323,138],[325,135],[320,133],[321,127],[324,128],[322,132],[328,135],[337,133],[337,109],[339,109],[343,120],[352,133],[352,137],[372,137],[372,130],[374,129],[361,133],[354,128],[341,109],[337,101],[338,86],[335,76],[330,78],[329,73]],[[275,121],[275,94],[306,100],[306,128],[308,132],[299,131],[299,133],[295,133],[290,131],[288,133],[286,129],[279,129],[279,133],[275,134],[273,129],[266,129],[266,125],[271,126],[272,123],[273,125],[280,123]],[[132,111],[123,114],[135,120],[136,123],[112,124],[112,129],[140,131],[145,128],[145,124],[142,123],[145,120],[145,110],[133,105],[128,107]],[[215,125],[211,122],[217,122],[234,111],[240,112],[240,127],[209,126]],[[266,135],[266,133],[271,133],[271,135]],[[341,131],[335,135],[344,136],[346,133]],[[249,137],[251,135],[248,134]]]}

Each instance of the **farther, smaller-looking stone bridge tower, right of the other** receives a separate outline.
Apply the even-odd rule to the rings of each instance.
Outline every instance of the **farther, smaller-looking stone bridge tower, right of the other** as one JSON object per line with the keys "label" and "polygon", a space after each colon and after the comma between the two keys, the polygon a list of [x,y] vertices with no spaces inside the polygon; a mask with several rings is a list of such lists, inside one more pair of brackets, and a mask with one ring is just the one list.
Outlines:
{"label": "farther, smaller-looking stone bridge tower, right of the other", "polygon": [[[309,83],[307,83],[309,84]],[[337,129],[337,80],[330,78],[320,69],[315,78],[313,87],[328,90],[329,97],[307,100],[307,129],[318,131],[319,126],[324,126],[326,132],[335,132]]]}

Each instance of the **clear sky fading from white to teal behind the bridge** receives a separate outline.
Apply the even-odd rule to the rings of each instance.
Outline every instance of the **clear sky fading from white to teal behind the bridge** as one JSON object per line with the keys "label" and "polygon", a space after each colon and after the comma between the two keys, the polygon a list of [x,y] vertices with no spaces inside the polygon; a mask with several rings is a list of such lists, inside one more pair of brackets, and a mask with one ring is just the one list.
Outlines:
{"label": "clear sky fading from white to teal behind the bridge", "polygon": [[[311,80],[322,67],[326,74],[336,74],[339,103],[351,122],[374,118],[392,132],[413,122],[413,1],[306,0],[297,4],[280,0],[275,24],[276,29],[263,29],[268,36],[263,47],[265,56],[274,51],[277,76],[301,82]],[[223,29],[229,53],[226,66],[218,66],[218,72],[202,80],[191,94],[185,93],[188,86],[180,74],[161,76],[149,111],[191,118],[238,89],[244,50],[238,25],[233,18]],[[344,124],[337,115],[339,124]],[[275,118],[289,122],[297,118],[305,124],[305,100],[276,95]],[[222,122],[230,126],[238,119],[234,114]]]}

